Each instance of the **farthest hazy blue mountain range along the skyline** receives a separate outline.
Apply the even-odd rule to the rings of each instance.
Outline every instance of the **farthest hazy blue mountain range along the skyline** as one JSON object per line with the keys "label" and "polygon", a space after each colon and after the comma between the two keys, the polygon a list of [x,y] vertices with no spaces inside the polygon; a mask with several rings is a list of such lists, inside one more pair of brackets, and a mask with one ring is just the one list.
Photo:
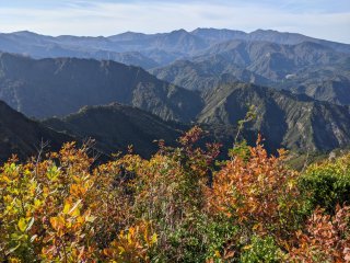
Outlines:
{"label": "farthest hazy blue mountain range along the skyline", "polygon": [[317,39],[301,34],[257,30],[252,33],[232,30],[197,28],[170,33],[142,34],[126,32],[108,37],[45,36],[33,32],[0,34],[0,50],[32,56],[106,59],[153,68],[179,58],[198,55],[214,44],[226,41],[270,42],[296,45],[312,42],[336,52],[350,54],[350,45]]}

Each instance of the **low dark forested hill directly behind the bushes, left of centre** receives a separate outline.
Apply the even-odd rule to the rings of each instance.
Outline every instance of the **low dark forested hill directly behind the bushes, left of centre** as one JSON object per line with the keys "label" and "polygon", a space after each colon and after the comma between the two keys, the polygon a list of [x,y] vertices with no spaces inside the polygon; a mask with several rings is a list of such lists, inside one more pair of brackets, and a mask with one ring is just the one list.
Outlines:
{"label": "low dark forested hill directly behind the bushes, left of centre", "polygon": [[136,107],[113,103],[83,107],[62,118],[49,118],[44,125],[77,138],[93,138],[96,148],[106,155],[126,152],[133,145],[137,153],[150,157],[158,150],[154,140],[174,145],[185,126],[164,122]]}

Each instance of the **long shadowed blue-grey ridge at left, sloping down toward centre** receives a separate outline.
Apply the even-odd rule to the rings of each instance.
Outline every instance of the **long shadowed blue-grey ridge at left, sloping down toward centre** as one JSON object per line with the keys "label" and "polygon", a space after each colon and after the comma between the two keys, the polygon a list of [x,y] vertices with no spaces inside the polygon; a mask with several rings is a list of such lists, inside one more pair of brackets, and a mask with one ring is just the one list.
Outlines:
{"label": "long shadowed blue-grey ridge at left, sloping down toward centre", "polygon": [[38,118],[120,102],[164,119],[188,122],[202,106],[198,93],[161,81],[141,68],[92,59],[34,60],[10,54],[0,55],[0,99]]}

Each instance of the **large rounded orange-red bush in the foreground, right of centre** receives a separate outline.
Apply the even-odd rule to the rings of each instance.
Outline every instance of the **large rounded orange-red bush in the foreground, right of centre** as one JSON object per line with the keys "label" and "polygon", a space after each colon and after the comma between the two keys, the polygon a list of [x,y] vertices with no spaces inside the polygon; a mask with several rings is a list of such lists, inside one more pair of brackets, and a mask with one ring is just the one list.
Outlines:
{"label": "large rounded orange-red bush in the foreground, right of centre", "polygon": [[207,192],[212,213],[233,217],[247,231],[288,238],[298,227],[302,203],[298,173],[283,164],[284,151],[279,155],[269,157],[259,138],[247,160],[228,161]]}

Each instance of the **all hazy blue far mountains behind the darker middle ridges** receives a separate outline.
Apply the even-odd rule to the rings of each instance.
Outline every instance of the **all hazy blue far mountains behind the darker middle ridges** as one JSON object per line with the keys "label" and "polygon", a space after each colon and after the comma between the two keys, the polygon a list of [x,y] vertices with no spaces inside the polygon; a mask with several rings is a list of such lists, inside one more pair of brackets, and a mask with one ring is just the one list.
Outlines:
{"label": "all hazy blue far mountains behind the darker middle ridges", "polygon": [[197,28],[52,37],[24,31],[0,34],[1,50],[33,58],[114,60],[190,90],[240,80],[338,104],[350,102],[350,45],[295,33]]}

